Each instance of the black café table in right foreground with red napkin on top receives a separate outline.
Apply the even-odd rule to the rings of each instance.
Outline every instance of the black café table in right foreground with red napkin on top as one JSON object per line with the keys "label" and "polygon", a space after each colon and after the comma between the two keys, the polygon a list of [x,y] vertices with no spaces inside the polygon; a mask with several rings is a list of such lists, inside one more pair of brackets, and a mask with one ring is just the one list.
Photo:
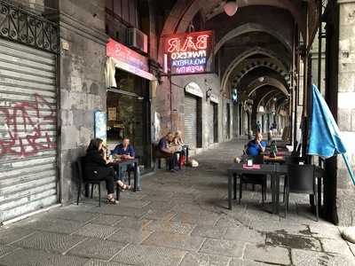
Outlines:
{"label": "black caf\u00e9 table in right foreground with red napkin on top", "polygon": [[[237,176],[243,174],[248,175],[270,175],[272,177],[272,213],[277,213],[279,210],[280,187],[276,187],[276,181],[279,178],[279,174],[276,173],[275,165],[273,164],[254,164],[253,167],[247,167],[245,163],[234,163],[231,168],[228,168],[228,208],[232,210],[232,188],[234,189],[234,197],[236,200],[237,194]],[[280,184],[280,180],[277,184]]]}

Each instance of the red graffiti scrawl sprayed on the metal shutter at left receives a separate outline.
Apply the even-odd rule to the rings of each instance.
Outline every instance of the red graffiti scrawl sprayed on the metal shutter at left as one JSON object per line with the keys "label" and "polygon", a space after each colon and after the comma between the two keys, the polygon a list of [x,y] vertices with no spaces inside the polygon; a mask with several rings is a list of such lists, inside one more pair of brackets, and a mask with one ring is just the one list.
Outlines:
{"label": "red graffiti scrawl sprayed on the metal shutter at left", "polygon": [[10,108],[0,106],[0,127],[4,128],[4,133],[0,132],[0,157],[33,156],[56,147],[50,130],[46,129],[56,125],[55,110],[42,96],[35,94],[34,98],[35,102],[18,102]]}

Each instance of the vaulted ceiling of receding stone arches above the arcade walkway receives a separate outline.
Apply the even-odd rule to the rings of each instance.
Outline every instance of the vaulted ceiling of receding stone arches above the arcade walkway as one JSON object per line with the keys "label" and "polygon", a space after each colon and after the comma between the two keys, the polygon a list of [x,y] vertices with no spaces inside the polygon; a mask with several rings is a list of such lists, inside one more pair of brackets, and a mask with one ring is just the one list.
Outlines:
{"label": "vaulted ceiling of receding stone arches above the arcade walkway", "polygon": [[[304,33],[303,0],[238,0],[233,17],[223,12],[223,0],[178,0],[162,35],[185,32],[191,23],[214,30],[222,94],[232,88],[260,101],[289,98],[289,72],[295,25]],[[201,26],[202,25],[202,26]],[[162,49],[162,38],[159,49]],[[162,51],[159,52],[162,57]],[[209,59],[209,66],[213,60]],[[260,103],[260,102],[259,102]]]}

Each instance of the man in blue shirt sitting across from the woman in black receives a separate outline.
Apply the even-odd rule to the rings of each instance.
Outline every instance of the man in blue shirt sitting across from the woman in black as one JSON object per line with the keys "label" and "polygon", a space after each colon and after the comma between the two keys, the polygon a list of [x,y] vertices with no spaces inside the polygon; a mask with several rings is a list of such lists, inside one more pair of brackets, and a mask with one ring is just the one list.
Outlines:
{"label": "man in blue shirt sitting across from the woman in black", "polygon": [[[130,159],[135,159],[136,158],[136,152],[134,151],[134,147],[132,145],[130,145],[130,139],[128,137],[124,137],[122,140],[122,144],[120,145],[116,145],[114,147],[114,150],[112,151],[112,154],[114,156],[120,157],[122,160],[130,160]],[[130,165],[130,166],[125,166],[121,168],[121,175],[120,176],[124,176],[123,174],[126,171],[134,171],[134,165]],[[139,172],[139,168],[137,168],[137,190],[140,191],[141,187],[141,178],[140,178],[140,172]]]}

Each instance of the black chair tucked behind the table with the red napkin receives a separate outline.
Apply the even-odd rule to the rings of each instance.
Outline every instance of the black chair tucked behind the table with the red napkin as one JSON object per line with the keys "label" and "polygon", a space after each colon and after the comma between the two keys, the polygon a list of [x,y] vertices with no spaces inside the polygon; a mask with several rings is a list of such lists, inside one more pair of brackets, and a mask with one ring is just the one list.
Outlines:
{"label": "black chair tucked behind the table with the red napkin", "polygon": [[[254,164],[263,164],[264,163],[264,156],[248,156],[248,159],[252,159]],[[242,197],[242,185],[243,184],[253,184],[253,189],[256,184],[261,185],[261,193],[262,193],[262,200],[264,206],[264,200],[266,200],[266,176],[265,175],[241,175],[240,183],[239,183],[239,204],[241,204],[241,197]]]}

